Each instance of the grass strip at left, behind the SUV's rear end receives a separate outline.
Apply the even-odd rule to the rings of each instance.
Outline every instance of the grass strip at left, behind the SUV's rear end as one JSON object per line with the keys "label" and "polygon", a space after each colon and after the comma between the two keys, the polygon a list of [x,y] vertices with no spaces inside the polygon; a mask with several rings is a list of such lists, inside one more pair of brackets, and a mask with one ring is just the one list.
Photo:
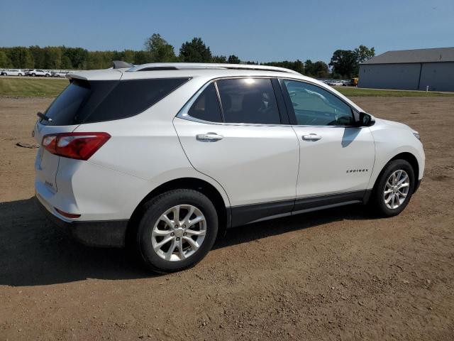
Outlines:
{"label": "grass strip at left, behind the SUV's rear end", "polygon": [[48,78],[0,78],[0,96],[56,97],[68,80]]}

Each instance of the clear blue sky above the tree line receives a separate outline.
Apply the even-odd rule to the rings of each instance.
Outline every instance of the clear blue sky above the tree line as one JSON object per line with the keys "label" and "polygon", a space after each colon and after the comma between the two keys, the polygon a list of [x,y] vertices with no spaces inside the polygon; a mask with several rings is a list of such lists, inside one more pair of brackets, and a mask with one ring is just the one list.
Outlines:
{"label": "clear blue sky above the tree line", "polygon": [[0,46],[140,50],[153,33],[179,47],[200,37],[213,55],[323,60],[358,45],[454,46],[454,0],[0,0]]}

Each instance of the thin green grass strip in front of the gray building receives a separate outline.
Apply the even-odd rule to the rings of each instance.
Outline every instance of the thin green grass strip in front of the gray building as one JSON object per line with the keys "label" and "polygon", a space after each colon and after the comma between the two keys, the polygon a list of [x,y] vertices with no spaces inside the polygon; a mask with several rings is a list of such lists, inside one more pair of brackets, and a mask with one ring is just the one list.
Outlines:
{"label": "thin green grass strip in front of the gray building", "polygon": [[405,90],[376,90],[358,87],[334,87],[346,97],[452,97],[450,92],[426,92]]}

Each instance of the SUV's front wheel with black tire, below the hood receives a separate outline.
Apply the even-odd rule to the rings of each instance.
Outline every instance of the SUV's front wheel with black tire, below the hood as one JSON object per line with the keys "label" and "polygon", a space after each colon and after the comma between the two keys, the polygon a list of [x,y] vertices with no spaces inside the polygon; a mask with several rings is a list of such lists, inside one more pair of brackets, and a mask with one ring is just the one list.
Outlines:
{"label": "SUV's front wheel with black tire, below the hood", "polygon": [[380,217],[399,215],[413,195],[414,184],[414,170],[407,161],[389,161],[372,190],[369,202],[372,213]]}

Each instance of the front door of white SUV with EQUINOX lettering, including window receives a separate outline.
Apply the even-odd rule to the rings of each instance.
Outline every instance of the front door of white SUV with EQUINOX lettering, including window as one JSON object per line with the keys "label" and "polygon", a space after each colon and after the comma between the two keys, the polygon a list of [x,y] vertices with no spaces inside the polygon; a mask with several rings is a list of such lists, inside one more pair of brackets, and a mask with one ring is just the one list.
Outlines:
{"label": "front door of white SUV with EQUINOX lettering, including window", "polygon": [[297,80],[280,84],[300,146],[295,210],[362,200],[375,161],[370,129],[355,124],[353,109],[333,92]]}

